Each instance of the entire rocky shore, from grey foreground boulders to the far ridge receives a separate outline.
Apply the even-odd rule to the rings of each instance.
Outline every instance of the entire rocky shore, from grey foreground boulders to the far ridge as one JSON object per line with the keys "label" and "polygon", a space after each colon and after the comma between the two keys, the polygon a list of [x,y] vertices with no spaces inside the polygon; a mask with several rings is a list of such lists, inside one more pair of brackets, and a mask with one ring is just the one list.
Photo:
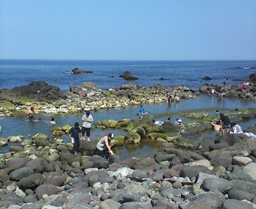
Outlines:
{"label": "entire rocky shore, from grey foreground boulders to the far ridge", "polygon": [[[23,90],[2,89],[1,115],[20,117],[26,115],[25,110],[31,106],[36,113],[52,115],[79,113],[84,108],[105,110],[167,102],[167,93],[172,98],[192,99],[199,94],[209,94],[212,88],[224,88],[222,84],[205,85],[207,87],[196,90],[185,86],[143,87],[129,83],[120,89],[102,90],[97,89],[95,83],[82,83],[81,86],[71,85],[71,91],[62,93],[56,86],[47,85],[33,82],[23,86]],[[38,86],[41,89],[37,89]],[[228,86],[226,97],[256,99],[255,86],[235,94],[238,89]],[[255,116],[253,109],[229,115],[232,121]],[[99,128],[115,124],[112,128],[128,132],[127,136],[116,139],[114,146],[137,143],[145,134],[163,142],[156,152],[127,160],[113,155],[108,161],[95,155],[95,144],[84,141],[79,156],[74,157],[70,151],[72,144],[65,144],[57,135],[53,138],[44,134],[36,134],[31,139],[26,136],[1,138],[1,146],[23,142],[22,146],[12,144],[9,152],[0,154],[0,208],[256,208],[255,139],[244,134],[218,136],[215,142],[199,139],[191,143],[185,139],[186,135],[212,128],[212,120],[215,117],[204,115],[201,120],[175,128],[172,134],[164,132],[173,127],[172,124],[164,129],[164,126],[149,125],[149,120],[140,125],[128,119],[99,121],[96,124]],[[70,127],[52,131],[65,134],[65,128]],[[248,131],[255,133],[256,127]]]}

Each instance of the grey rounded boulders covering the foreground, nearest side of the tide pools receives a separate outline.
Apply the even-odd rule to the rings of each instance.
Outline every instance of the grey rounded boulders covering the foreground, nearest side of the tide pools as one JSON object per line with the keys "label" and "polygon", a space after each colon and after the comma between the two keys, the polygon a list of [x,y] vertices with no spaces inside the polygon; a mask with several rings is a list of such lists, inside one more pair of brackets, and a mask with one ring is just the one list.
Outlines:
{"label": "grey rounded boulders covering the foreground, nearest side of the tide pools", "polygon": [[108,161],[90,142],[74,157],[71,143],[36,134],[1,154],[0,208],[255,208],[256,140],[231,134],[199,145],[169,142]]}

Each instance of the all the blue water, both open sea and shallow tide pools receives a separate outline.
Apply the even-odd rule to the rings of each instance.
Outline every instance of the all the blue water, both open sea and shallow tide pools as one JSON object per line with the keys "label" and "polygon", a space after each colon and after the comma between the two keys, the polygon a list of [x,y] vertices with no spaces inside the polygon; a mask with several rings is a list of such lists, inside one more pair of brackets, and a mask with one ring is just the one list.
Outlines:
{"label": "all the blue water, both open sea and shallow tide pools", "polygon": [[[53,86],[58,86],[61,91],[69,91],[70,84],[76,86],[82,82],[95,82],[99,89],[108,89],[111,86],[119,88],[125,81],[119,78],[124,71],[129,71],[138,78],[132,81],[141,86],[153,86],[156,83],[163,84],[167,87],[179,86],[183,84],[188,88],[198,89],[204,83],[223,83],[224,78],[228,78],[228,85],[237,85],[241,81],[247,81],[249,75],[256,73],[256,61],[77,61],[77,60],[0,60],[0,89],[11,89],[16,86],[27,85],[31,81],[45,81]],[[92,70],[93,73],[82,73],[73,75],[65,73],[74,67],[81,70]],[[244,67],[250,67],[244,69]],[[202,78],[209,76],[210,81],[204,81]],[[164,80],[159,80],[164,78]],[[241,81],[233,81],[239,79]],[[179,103],[162,104],[143,104],[145,111],[150,111],[150,117],[153,114],[161,112],[175,112],[180,110],[193,110],[200,108],[228,108],[228,109],[246,109],[256,107],[255,101],[250,99],[225,98],[225,97],[209,97],[201,95],[197,99],[181,100]],[[95,121],[99,120],[121,120],[123,118],[138,120],[137,113],[139,106],[129,106],[127,108],[117,108],[112,110],[92,111]],[[220,111],[225,113],[225,111]],[[215,114],[215,111],[209,112]],[[29,123],[23,118],[0,118],[2,132],[0,137],[12,135],[23,135],[28,139],[27,135],[32,136],[37,133],[49,134],[52,137],[52,131],[49,120],[52,115],[35,115],[36,119],[41,118],[41,122]],[[56,126],[64,126],[69,124],[73,126],[76,121],[81,124],[81,115],[62,115],[54,116],[57,122]],[[172,122],[175,118],[182,118],[180,115],[173,115]],[[166,120],[167,117],[158,118],[157,120]],[[183,122],[189,119],[182,118]],[[255,124],[255,120],[244,121],[239,123],[243,128],[249,128]],[[92,130],[92,143],[96,138],[103,137],[112,132],[114,135],[124,136],[126,133],[118,129],[96,128]],[[205,135],[212,137],[211,133]],[[64,142],[68,141],[68,136],[62,136]],[[7,147],[1,147],[0,152],[8,152]],[[140,144],[131,145],[129,147],[119,147],[116,153],[123,158],[131,157],[141,153],[152,152],[159,144],[151,141],[143,141]]]}

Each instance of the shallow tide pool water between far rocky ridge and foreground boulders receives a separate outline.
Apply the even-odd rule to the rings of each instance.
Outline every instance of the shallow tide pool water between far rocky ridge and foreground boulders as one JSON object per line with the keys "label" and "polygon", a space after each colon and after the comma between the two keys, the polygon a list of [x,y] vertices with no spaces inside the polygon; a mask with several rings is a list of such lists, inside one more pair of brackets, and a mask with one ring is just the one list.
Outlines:
{"label": "shallow tide pool water between far rocky ridge and foreground boulders", "polygon": [[[221,97],[209,97],[208,95],[201,95],[197,99],[185,99],[180,100],[179,103],[171,103],[168,105],[167,103],[161,103],[156,105],[143,105],[145,111],[150,111],[150,117],[153,118],[153,114],[162,113],[162,112],[175,112],[180,110],[196,110],[201,108],[209,108],[209,107],[216,107],[219,108],[228,108],[228,109],[247,109],[250,107],[256,107],[255,101],[249,99],[236,99],[236,98],[221,98]],[[94,121],[97,120],[121,120],[124,118],[135,119],[138,120],[139,116],[137,113],[140,110],[140,106],[129,106],[127,108],[117,108],[112,110],[100,110],[97,112],[91,112]],[[227,110],[222,111],[220,113],[228,112]],[[209,111],[209,115],[215,115],[215,111]],[[64,126],[65,124],[69,124],[73,126],[73,123],[78,121],[81,124],[81,115],[55,115],[54,118],[57,122],[56,126]],[[41,122],[25,122],[22,118],[7,118],[1,117],[0,118],[0,125],[2,126],[2,132],[0,133],[0,137],[7,137],[12,135],[23,135],[27,136],[31,134],[32,136],[37,133],[44,133],[49,134],[52,136],[52,128],[49,125],[49,120],[52,118],[52,115],[35,115],[35,118],[41,118]],[[157,120],[167,120],[167,116],[157,118]],[[175,122],[175,118],[182,118],[180,115],[172,115],[172,122]],[[189,121],[188,118],[182,118],[183,123]],[[256,123],[256,119],[247,120],[242,123],[239,123],[242,128],[246,129]],[[119,129],[109,128],[106,130],[101,130],[100,128],[93,128],[91,133],[90,139],[92,143],[96,143],[95,139],[98,137],[103,137],[108,133],[113,133],[116,136],[122,135],[124,136],[126,133]],[[215,134],[206,133],[205,135],[201,135],[203,137],[215,139]],[[69,142],[68,136],[62,136],[64,142]],[[28,137],[24,138],[28,139]],[[9,144],[6,147],[1,148],[1,152],[7,152],[9,149]],[[132,157],[138,154],[152,152],[156,149],[156,142],[151,141],[142,141],[140,144],[129,145],[124,147],[115,148],[116,154],[122,158]]]}

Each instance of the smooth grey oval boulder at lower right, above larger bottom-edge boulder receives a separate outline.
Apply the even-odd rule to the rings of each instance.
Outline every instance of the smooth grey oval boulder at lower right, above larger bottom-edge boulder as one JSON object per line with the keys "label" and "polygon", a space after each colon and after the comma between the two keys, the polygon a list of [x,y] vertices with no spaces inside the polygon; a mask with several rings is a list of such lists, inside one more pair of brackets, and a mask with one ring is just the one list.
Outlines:
{"label": "smooth grey oval boulder at lower right, above larger bottom-edge boulder", "polygon": [[207,190],[217,189],[220,192],[227,192],[232,187],[232,183],[226,179],[214,178],[204,179],[203,187]]}

